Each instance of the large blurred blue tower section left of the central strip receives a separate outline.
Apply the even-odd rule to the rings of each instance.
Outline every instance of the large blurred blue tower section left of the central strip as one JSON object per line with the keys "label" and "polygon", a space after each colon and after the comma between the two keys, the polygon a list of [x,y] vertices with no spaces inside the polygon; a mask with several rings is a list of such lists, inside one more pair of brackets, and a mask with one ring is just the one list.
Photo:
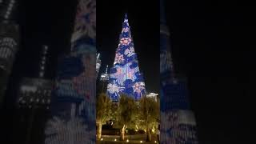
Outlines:
{"label": "large blurred blue tower section left of the central strip", "polygon": [[94,144],[96,0],[79,0],[71,52],[58,62],[46,144]]}

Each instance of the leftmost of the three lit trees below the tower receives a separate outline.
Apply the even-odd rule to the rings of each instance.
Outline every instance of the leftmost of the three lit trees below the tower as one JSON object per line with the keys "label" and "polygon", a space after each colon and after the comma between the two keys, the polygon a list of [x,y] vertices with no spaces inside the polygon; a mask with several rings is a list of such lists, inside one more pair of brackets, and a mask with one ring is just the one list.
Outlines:
{"label": "leftmost of the three lit trees below the tower", "polygon": [[101,93],[98,95],[96,102],[97,138],[102,137],[102,125],[106,124],[111,118],[111,105],[112,102],[106,94]]}

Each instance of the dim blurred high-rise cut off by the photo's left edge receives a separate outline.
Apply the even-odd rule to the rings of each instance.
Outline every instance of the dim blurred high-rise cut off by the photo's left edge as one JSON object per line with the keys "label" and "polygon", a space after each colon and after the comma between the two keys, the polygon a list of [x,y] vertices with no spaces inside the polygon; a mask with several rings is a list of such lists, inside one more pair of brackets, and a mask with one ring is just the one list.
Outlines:
{"label": "dim blurred high-rise cut off by the photo's left edge", "polygon": [[9,75],[18,51],[19,27],[12,21],[16,2],[0,2],[0,107],[6,92]]}

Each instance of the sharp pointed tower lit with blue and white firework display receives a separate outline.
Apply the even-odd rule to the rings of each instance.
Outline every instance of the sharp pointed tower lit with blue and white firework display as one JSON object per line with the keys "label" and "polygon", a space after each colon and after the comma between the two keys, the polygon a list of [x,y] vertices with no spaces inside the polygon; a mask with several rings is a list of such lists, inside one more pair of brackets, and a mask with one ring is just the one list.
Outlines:
{"label": "sharp pointed tower lit with blue and white firework display", "polygon": [[146,94],[145,83],[138,68],[138,58],[134,51],[127,15],[122,23],[114,67],[110,69],[107,94],[112,101],[118,101],[120,94],[127,94],[136,100]]}

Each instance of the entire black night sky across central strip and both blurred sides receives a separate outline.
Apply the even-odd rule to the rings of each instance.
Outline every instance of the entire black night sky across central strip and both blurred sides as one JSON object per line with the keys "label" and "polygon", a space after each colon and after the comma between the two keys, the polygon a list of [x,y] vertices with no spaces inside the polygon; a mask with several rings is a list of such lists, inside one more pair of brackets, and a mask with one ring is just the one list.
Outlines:
{"label": "entire black night sky across central strip and both blurred sides", "polygon": [[[70,50],[76,2],[22,1],[18,22],[21,49],[14,63],[10,86],[22,77],[37,77],[41,45],[50,46],[46,78],[54,78],[59,54]],[[226,6],[225,6],[226,5]],[[251,143],[255,116],[255,22],[252,6],[235,2],[168,1],[175,71],[189,80],[192,110],[202,144]],[[135,52],[146,89],[158,92],[158,1],[97,1],[97,47],[102,68],[113,66],[114,51],[128,14]],[[6,131],[12,134],[15,94],[6,99]],[[7,134],[7,133],[6,133]],[[8,134],[7,134],[8,135]],[[11,139],[11,136],[9,135]]]}

